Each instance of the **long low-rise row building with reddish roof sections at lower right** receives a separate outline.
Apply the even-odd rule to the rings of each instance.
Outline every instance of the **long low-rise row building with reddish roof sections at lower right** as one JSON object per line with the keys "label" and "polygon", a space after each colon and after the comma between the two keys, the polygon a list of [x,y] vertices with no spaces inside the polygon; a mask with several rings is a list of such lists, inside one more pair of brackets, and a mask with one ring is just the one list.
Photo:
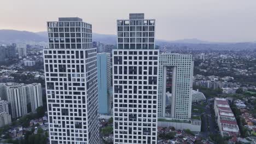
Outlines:
{"label": "long low-rise row building with reddish roof sections at lower right", "polygon": [[214,112],[217,118],[220,135],[238,136],[240,134],[236,118],[230,109],[228,100],[225,98],[215,98]]}

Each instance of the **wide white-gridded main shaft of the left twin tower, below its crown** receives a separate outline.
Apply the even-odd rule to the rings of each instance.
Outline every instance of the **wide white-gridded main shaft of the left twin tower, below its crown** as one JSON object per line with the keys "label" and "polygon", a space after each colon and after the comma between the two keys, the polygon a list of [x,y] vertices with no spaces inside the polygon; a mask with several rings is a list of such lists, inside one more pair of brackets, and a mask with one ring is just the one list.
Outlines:
{"label": "wide white-gridded main shaft of the left twin tower, below its crown", "polygon": [[99,143],[96,49],[45,49],[44,67],[51,143]]}

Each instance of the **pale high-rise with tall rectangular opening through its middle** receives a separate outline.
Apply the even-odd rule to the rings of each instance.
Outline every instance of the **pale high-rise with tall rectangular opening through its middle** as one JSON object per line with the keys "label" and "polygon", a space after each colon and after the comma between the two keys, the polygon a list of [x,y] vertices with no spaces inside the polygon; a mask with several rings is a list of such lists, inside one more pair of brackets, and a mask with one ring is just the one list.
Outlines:
{"label": "pale high-rise with tall rectangular opening through its middle", "polygon": [[171,113],[173,119],[191,118],[193,61],[191,55],[161,53],[159,57],[158,117],[166,117],[166,67],[173,67]]}

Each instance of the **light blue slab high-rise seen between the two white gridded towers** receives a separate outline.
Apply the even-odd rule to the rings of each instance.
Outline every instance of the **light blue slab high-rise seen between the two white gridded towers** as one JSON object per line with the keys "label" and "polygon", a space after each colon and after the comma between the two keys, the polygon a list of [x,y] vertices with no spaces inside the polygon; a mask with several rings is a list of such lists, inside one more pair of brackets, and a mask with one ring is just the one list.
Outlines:
{"label": "light blue slab high-rise seen between the two white gridded towers", "polygon": [[98,71],[98,109],[100,113],[110,114],[112,108],[110,53],[97,53]]}

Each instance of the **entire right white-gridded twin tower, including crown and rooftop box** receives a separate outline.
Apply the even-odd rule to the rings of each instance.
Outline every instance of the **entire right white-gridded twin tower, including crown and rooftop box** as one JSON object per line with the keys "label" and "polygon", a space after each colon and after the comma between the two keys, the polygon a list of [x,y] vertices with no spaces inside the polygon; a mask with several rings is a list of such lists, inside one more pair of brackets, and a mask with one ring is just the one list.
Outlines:
{"label": "entire right white-gridded twin tower, including crown and rooftop box", "polygon": [[158,55],[155,20],[117,20],[113,50],[114,143],[157,143]]}

